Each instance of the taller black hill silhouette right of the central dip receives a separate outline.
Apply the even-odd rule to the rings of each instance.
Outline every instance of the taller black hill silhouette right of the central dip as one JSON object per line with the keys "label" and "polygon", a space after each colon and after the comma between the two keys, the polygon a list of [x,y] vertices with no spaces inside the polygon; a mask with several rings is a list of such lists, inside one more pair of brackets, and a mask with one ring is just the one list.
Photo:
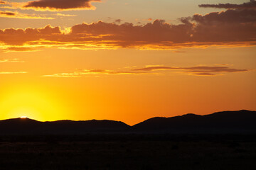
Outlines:
{"label": "taller black hill silhouette right of the central dip", "polygon": [[256,132],[256,111],[223,111],[210,115],[186,114],[150,118],[132,128],[142,132],[251,133]]}

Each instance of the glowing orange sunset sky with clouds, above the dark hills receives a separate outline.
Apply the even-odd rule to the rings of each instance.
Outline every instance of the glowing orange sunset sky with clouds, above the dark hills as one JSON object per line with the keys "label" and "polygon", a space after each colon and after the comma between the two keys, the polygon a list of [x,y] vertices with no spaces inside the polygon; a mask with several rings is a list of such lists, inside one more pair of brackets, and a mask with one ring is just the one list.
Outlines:
{"label": "glowing orange sunset sky with clouds, above the dark hills", "polygon": [[0,0],[0,119],[256,110],[256,2]]}

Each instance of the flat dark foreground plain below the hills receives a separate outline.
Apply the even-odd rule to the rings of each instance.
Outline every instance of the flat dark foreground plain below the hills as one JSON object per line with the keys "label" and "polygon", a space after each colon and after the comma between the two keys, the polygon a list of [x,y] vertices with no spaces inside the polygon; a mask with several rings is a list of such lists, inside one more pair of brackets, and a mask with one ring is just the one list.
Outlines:
{"label": "flat dark foreground plain below the hills", "polygon": [[2,135],[0,169],[256,169],[256,135]]}

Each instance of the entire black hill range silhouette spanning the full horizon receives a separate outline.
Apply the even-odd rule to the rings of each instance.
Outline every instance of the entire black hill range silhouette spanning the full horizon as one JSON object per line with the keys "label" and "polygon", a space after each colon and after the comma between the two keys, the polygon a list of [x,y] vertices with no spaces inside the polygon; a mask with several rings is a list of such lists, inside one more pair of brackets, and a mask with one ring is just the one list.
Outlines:
{"label": "entire black hill range silhouette spanning the full horizon", "polygon": [[256,111],[223,111],[210,115],[186,114],[150,118],[129,126],[114,120],[58,120],[29,118],[0,120],[1,135],[82,135],[87,133],[256,133]]}

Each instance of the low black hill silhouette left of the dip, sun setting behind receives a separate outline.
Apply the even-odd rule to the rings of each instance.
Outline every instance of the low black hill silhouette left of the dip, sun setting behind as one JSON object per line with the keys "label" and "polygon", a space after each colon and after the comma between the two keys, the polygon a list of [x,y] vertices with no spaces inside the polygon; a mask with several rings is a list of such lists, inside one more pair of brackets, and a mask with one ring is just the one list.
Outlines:
{"label": "low black hill silhouette left of the dip, sun setting behind", "polygon": [[0,134],[31,134],[31,135],[81,135],[92,132],[124,132],[129,125],[114,120],[58,120],[40,122],[29,118],[0,120]]}

